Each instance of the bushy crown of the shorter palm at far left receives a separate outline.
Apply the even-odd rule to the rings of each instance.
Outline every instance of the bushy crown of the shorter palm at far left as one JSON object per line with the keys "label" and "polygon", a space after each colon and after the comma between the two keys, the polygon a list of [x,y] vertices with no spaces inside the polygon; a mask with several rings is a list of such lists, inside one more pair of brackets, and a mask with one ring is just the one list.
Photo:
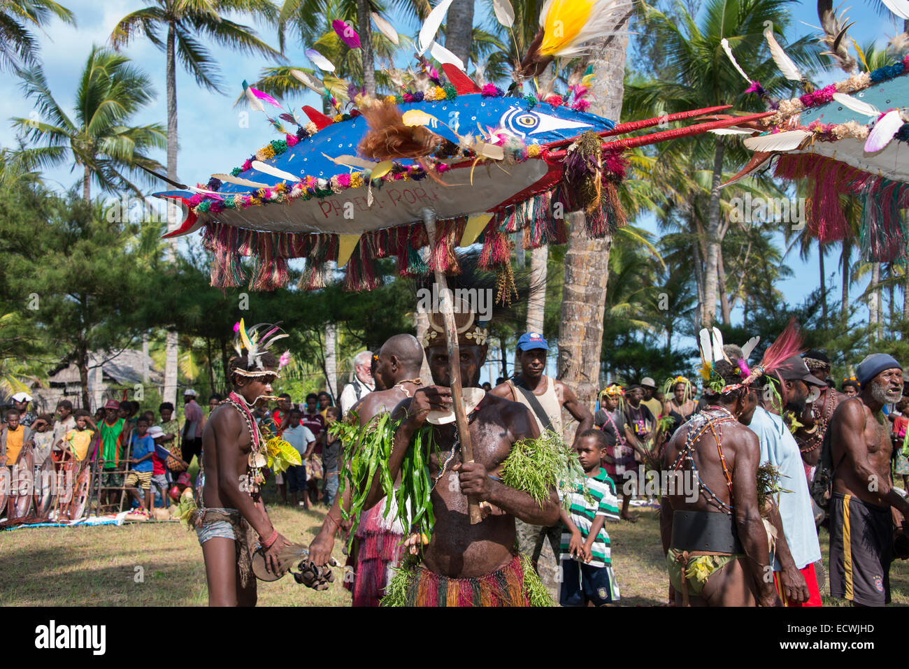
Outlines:
{"label": "bushy crown of the shorter palm at far left", "polygon": [[46,169],[72,163],[74,169],[81,168],[85,202],[91,201],[93,181],[104,191],[129,189],[141,195],[130,179],[145,178],[140,166],[160,168],[145,152],[164,148],[166,139],[160,124],[127,125],[155,99],[145,73],[130,65],[125,55],[93,46],[75,92],[73,118],[57,104],[40,65],[21,76],[25,97],[35,101],[41,118],[48,119],[47,123],[13,119],[31,145],[18,154],[23,165]]}

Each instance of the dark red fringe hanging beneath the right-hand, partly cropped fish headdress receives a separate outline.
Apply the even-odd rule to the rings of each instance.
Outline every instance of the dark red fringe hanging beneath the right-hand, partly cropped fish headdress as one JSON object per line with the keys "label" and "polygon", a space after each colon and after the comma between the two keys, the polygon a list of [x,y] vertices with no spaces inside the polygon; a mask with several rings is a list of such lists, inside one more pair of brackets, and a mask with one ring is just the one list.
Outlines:
{"label": "dark red fringe hanging beneath the right-hand, partly cropped fish headdress", "polygon": [[854,196],[862,203],[859,239],[864,258],[879,263],[907,260],[909,232],[901,210],[909,206],[909,185],[811,154],[780,155],[774,174],[808,179],[807,225],[819,241],[840,241],[850,234],[840,196]]}

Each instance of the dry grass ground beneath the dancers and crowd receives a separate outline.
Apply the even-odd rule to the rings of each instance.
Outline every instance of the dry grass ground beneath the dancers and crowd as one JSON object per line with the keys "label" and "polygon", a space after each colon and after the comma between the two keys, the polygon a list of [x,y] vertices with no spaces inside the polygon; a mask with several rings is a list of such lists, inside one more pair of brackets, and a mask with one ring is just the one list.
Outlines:
{"label": "dry grass ground beneath the dancers and crowd", "polygon": [[[271,505],[275,526],[291,540],[309,544],[325,507],[306,512]],[[641,510],[636,524],[608,524],[615,574],[623,606],[663,604],[666,596],[664,556],[656,512]],[[821,549],[827,559],[827,533]],[[341,545],[335,558],[344,563]],[[0,532],[0,605],[179,605],[207,602],[205,566],[195,532],[178,523],[137,523],[123,527],[35,528]],[[144,581],[136,583],[136,567]],[[340,584],[316,593],[285,576],[259,584],[264,606],[347,606],[350,596]],[[909,563],[897,561],[890,572],[894,604],[909,604]],[[826,596],[824,605],[844,604]]]}

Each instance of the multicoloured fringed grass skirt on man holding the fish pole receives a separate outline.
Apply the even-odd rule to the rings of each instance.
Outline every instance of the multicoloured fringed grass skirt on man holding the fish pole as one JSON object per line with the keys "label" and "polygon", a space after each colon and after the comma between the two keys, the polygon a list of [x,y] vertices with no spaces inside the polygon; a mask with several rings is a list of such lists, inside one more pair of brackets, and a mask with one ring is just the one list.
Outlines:
{"label": "multicoloured fringed grass skirt on man holding the fish pole", "polygon": [[[382,600],[383,606],[530,606],[544,604],[532,593],[538,589],[527,582],[539,582],[529,562],[521,555],[502,569],[479,578],[448,578],[425,567],[402,568],[396,571],[393,583]],[[540,584],[542,587],[542,584]],[[400,595],[404,595],[401,597]]]}

